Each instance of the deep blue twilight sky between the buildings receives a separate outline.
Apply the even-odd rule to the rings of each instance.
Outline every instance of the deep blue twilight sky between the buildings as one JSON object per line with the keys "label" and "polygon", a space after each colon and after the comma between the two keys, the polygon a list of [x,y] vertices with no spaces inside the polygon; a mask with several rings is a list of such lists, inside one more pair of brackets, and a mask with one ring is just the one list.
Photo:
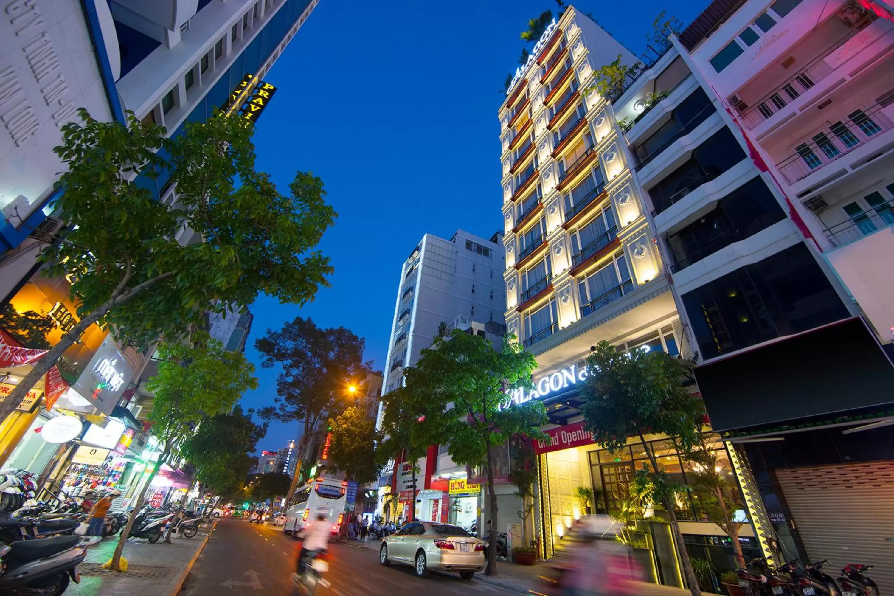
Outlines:
{"label": "deep blue twilight sky between the buildings", "polygon": [[[707,4],[574,3],[636,55],[662,10],[688,23]],[[339,217],[320,248],[335,273],[307,306],[257,300],[250,360],[268,328],[300,315],[366,338],[367,359],[384,368],[409,251],[425,233],[450,238],[461,228],[487,238],[502,224],[502,84],[518,65],[527,20],[556,8],[553,0],[321,0],[265,78],[278,90],[255,142],[258,169],[283,189],[298,170],[324,180]],[[276,371],[258,366],[257,376],[244,407],[274,400]],[[272,423],[258,450],[279,449],[297,432],[298,424]]]}

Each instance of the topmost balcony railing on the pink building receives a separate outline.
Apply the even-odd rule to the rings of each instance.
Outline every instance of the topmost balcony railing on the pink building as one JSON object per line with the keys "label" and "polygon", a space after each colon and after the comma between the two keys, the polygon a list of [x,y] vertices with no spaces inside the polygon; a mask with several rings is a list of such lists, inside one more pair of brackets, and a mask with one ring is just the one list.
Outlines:
{"label": "topmost balcony railing on the pink building", "polygon": [[[847,44],[857,33],[863,31],[869,23],[870,17],[864,17],[863,20],[857,22],[852,29],[848,29],[844,35],[834,40],[825,49],[812,53],[815,56],[814,59],[799,68],[795,74],[783,80],[770,93],[746,107],[741,112],[741,120],[746,127],[749,129],[755,128],[764,120],[772,117],[774,113],[779,112],[789,102],[797,99],[807,89],[814,87],[816,83],[829,76],[835,69],[829,63],[826,63],[825,59],[839,47]],[[880,30],[879,35],[883,35],[884,32],[885,30]],[[871,43],[871,41],[865,39],[858,41],[863,47],[868,47]]]}

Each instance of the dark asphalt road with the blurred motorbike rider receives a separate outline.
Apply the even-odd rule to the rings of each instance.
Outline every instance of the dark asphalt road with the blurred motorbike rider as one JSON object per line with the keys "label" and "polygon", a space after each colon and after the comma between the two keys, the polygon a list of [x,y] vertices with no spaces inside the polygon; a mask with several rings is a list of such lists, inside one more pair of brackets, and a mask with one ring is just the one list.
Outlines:
{"label": "dark asphalt road with the blurred motorbike rider", "polygon": [[[181,596],[230,594],[298,594],[289,575],[295,570],[300,541],[271,525],[224,519],[199,556],[181,590]],[[397,596],[437,593],[438,596],[510,596],[511,592],[459,575],[433,573],[427,579],[413,575],[409,566],[379,565],[375,550],[331,543],[329,573],[332,587],[319,596]]]}

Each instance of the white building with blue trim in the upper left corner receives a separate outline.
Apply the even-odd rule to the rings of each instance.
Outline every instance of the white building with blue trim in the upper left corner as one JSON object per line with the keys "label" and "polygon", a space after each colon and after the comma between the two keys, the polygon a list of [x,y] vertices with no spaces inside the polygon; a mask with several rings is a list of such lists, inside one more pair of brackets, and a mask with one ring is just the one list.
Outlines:
{"label": "white building with blue trim in the upper left corner", "polygon": [[[63,165],[61,127],[85,107],[179,134],[263,79],[318,0],[13,0],[0,17],[0,296],[34,273]],[[249,87],[251,86],[249,85]],[[139,180],[169,199],[169,176]],[[48,219],[49,218],[49,219]]]}

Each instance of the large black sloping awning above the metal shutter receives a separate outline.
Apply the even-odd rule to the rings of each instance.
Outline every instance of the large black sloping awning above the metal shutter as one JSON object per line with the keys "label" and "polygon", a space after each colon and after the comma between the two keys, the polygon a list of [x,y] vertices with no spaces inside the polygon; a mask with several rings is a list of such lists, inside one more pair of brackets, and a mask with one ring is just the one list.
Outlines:
{"label": "large black sloping awning above the metal shutter", "polygon": [[860,317],[696,367],[717,432],[790,431],[894,409],[894,365]]}

